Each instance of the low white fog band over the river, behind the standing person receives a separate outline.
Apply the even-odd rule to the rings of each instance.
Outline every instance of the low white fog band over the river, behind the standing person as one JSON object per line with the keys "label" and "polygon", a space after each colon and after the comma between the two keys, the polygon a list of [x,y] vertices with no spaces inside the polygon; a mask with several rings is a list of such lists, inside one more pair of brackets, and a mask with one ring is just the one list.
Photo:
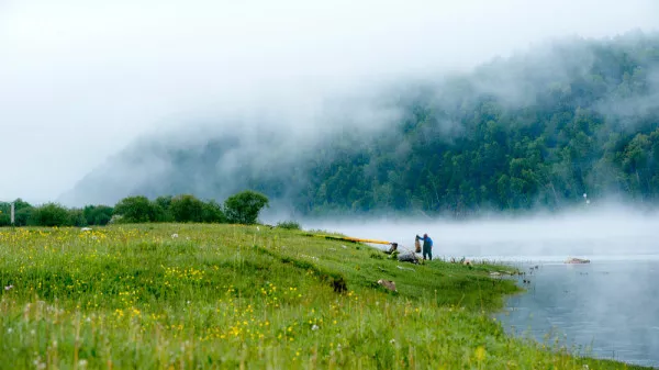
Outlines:
{"label": "low white fog band over the river, behind the standing person", "polygon": [[659,260],[656,243],[659,212],[615,202],[583,204],[555,214],[492,214],[470,221],[350,218],[309,221],[302,225],[305,229],[399,243],[404,250],[414,249],[415,235],[427,233],[434,242],[434,256],[443,259],[466,257],[515,262],[562,262],[569,257],[593,261]]}

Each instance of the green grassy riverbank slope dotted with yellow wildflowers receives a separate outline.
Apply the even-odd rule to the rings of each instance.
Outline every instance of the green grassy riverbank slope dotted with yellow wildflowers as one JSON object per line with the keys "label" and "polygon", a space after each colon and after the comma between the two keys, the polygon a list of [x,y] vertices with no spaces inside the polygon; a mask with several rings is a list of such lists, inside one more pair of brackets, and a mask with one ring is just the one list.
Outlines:
{"label": "green grassy riverbank slope dotted with yellow wildflowers", "polygon": [[506,336],[500,267],[380,256],[264,226],[0,231],[0,368],[626,368]]}

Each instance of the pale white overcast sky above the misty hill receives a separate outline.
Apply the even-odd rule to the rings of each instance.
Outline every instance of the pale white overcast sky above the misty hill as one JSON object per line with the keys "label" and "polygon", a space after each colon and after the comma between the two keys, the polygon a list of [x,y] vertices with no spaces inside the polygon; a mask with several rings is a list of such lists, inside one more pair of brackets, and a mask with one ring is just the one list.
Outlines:
{"label": "pale white overcast sky above the misty hill", "polygon": [[658,24],[658,0],[0,0],[0,200],[55,200],[158,122],[208,106],[294,106]]}

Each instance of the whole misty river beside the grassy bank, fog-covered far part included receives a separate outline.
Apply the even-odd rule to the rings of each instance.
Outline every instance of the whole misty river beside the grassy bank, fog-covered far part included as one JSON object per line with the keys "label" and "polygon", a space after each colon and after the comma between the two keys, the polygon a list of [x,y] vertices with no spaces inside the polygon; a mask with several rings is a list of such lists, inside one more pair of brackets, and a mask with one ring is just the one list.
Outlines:
{"label": "whole misty river beside the grassy bank, fog-covered far part included", "polygon": [[[303,226],[396,242],[402,249],[411,249],[414,235],[427,233],[435,257],[517,267],[530,283],[520,281],[526,292],[510,296],[499,314],[509,333],[538,341],[558,338],[584,356],[659,368],[658,214],[607,209],[468,223],[384,220]],[[569,257],[591,264],[567,265]]]}

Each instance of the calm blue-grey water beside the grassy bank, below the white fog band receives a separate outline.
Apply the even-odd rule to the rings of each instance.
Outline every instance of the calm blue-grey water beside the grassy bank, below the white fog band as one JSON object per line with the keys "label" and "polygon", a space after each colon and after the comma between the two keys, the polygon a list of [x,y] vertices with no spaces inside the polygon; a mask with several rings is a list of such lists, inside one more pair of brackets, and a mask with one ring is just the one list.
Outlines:
{"label": "calm blue-grey water beside the grassy bank, below the white fog band", "polygon": [[539,341],[549,335],[583,355],[659,367],[657,256],[513,265],[530,284],[499,315],[510,332]]}

